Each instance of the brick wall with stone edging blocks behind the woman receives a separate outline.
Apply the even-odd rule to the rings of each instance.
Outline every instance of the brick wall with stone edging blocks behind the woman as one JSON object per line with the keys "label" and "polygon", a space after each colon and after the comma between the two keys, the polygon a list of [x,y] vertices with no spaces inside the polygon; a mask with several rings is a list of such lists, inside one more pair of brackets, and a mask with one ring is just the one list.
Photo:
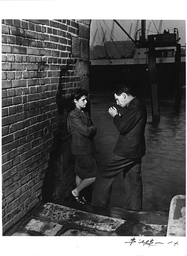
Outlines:
{"label": "brick wall with stone edging blocks behind the woman", "polygon": [[89,89],[90,20],[2,20],[3,232],[74,185],[69,96]]}

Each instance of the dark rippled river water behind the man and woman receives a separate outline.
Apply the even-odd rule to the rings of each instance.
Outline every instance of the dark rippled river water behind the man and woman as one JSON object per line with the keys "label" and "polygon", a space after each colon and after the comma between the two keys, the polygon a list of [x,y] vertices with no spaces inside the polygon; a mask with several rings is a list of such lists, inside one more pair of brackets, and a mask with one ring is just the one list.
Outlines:
{"label": "dark rippled river water behind the man and woman", "polygon": [[[108,113],[116,101],[111,92],[90,92],[91,119],[97,126],[95,142],[98,164],[113,151],[118,131]],[[159,100],[161,121],[152,124],[151,100],[141,99],[147,108],[146,155],[142,158],[143,211],[169,214],[171,199],[186,194],[186,108],[185,96],[179,110],[173,98]],[[120,109],[123,112],[123,109]],[[110,206],[125,206],[122,173],[113,183]]]}

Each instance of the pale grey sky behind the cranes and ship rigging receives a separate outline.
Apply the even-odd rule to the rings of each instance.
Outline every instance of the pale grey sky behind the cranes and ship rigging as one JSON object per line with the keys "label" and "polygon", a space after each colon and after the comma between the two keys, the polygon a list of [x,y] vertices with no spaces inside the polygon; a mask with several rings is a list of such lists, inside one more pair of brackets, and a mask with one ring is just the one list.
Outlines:
{"label": "pale grey sky behind the cranes and ship rigging", "polygon": [[[131,29],[131,37],[134,39],[134,35],[135,35],[135,30],[136,30],[136,25],[137,25],[137,21],[138,20],[125,20],[125,19],[121,19],[118,20],[116,19],[117,22],[127,31],[127,33],[130,32],[130,27],[132,24],[132,29]],[[151,24],[150,24],[151,23]],[[146,26],[145,29],[149,28],[150,25],[150,34],[157,34],[157,30],[159,29],[159,25],[161,23],[161,20],[146,20]],[[98,28],[96,37],[95,37],[95,44],[94,45],[100,45],[100,43],[102,42],[102,34],[101,34],[101,27],[103,28],[103,31],[105,33],[106,31],[106,41],[110,41],[110,32],[112,30],[112,25],[113,25],[113,20],[112,19],[93,19],[91,20],[91,26],[90,26],[90,45],[93,41],[93,37],[96,33],[96,30]],[[139,28],[141,28],[141,20],[139,20]],[[170,33],[173,33],[173,28],[177,28],[179,31],[179,37],[181,38],[181,40],[179,41],[179,43],[181,44],[181,46],[185,45],[185,41],[186,41],[186,29],[185,29],[185,20],[162,20],[162,27],[161,27],[161,33],[163,33],[164,29],[166,29],[166,31],[168,31],[168,29],[170,30]],[[98,33],[99,32],[99,33]],[[153,33],[154,32],[154,33]],[[121,41],[121,40],[127,40],[128,36],[123,32],[123,30],[116,24],[114,23],[114,41]],[[145,33],[145,35],[147,35],[147,31]]]}

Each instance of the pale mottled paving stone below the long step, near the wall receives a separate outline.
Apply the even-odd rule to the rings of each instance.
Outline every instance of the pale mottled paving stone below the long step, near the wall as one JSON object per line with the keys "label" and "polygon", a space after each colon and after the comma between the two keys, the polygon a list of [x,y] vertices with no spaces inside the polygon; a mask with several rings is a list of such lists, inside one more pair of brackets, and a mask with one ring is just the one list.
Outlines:
{"label": "pale mottled paving stone below the long step, near the wall", "polygon": [[55,236],[57,232],[63,227],[54,221],[44,221],[31,219],[25,226],[27,230],[42,233],[44,236]]}

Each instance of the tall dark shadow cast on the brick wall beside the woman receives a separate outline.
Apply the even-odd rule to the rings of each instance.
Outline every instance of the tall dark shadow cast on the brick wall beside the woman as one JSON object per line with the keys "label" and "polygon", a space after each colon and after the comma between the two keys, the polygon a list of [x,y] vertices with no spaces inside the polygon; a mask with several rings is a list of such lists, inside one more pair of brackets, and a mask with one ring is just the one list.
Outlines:
{"label": "tall dark shadow cast on the brick wall beside the woman", "polygon": [[[63,197],[65,188],[59,192],[64,180],[64,166],[61,166],[61,155],[67,149],[68,142],[71,141],[71,135],[67,130],[67,117],[72,110],[71,100],[66,99],[66,90],[63,90],[64,70],[60,71],[59,91],[56,95],[56,104],[58,106],[58,129],[54,137],[54,143],[50,152],[48,168],[45,172],[45,177],[42,187],[42,200],[44,203],[53,202],[54,199]],[[68,80],[66,80],[68,82]],[[74,163],[72,163],[73,168]],[[63,173],[64,172],[64,173]],[[65,186],[65,185],[64,185]],[[67,186],[68,187],[68,186]],[[58,192],[57,192],[58,191]]]}

